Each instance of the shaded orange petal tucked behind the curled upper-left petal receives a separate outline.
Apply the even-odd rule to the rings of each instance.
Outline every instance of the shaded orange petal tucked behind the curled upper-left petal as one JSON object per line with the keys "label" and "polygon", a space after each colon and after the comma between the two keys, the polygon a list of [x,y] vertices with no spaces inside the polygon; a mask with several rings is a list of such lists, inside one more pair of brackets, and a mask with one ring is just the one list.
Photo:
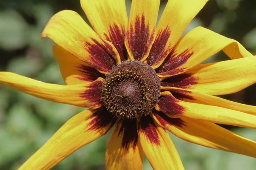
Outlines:
{"label": "shaded orange petal tucked behind the curled upper-left petal", "polygon": [[97,78],[105,76],[58,45],[52,46],[52,53],[59,64],[61,75],[67,85],[93,82]]}

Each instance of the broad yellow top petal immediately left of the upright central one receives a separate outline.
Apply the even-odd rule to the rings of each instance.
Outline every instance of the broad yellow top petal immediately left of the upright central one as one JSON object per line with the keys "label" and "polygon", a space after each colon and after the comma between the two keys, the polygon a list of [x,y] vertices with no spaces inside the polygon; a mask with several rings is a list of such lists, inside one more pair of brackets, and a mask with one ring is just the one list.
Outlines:
{"label": "broad yellow top petal immediately left of the upright central one", "polygon": [[94,31],[116,47],[121,61],[127,59],[124,44],[128,24],[125,0],[80,0],[80,2]]}

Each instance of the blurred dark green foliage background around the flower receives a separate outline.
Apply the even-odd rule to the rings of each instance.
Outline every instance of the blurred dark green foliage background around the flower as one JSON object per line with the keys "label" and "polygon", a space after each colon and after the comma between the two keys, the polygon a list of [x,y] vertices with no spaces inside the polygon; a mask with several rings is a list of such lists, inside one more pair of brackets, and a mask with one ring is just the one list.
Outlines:
{"label": "blurred dark green foliage background around the flower", "polygon": [[[131,1],[127,0],[127,9]],[[160,13],[166,0],[161,1]],[[50,17],[71,9],[86,20],[79,0],[2,0],[0,6],[0,71],[12,71],[44,82],[64,84],[52,57],[53,42],[41,40],[41,32]],[[160,18],[160,16],[159,16]],[[175,24],[175,23],[174,23]],[[188,26],[188,32],[204,26],[241,42],[256,54],[256,1],[210,0]],[[206,62],[228,59],[223,52]],[[76,113],[71,105],[56,104],[0,85],[0,170],[15,170]],[[236,94],[223,96],[233,101],[255,105],[256,85]],[[227,128],[256,140],[255,131]],[[105,150],[110,133],[82,147],[53,170],[105,169]],[[171,134],[186,170],[254,170],[256,160],[191,144]],[[145,160],[144,169],[152,169]]]}

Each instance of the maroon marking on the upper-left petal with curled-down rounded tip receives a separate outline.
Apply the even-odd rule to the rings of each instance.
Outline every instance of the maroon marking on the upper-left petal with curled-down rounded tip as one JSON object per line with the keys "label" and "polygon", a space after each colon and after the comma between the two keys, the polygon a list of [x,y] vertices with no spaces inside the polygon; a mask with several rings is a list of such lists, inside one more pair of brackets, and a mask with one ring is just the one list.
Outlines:
{"label": "maroon marking on the upper-left petal with curled-down rounded tip", "polygon": [[91,62],[89,64],[97,70],[102,70],[105,72],[111,71],[112,67],[116,65],[117,62],[115,59],[116,54],[113,51],[113,48],[104,40],[104,44],[99,43],[93,38],[92,40],[94,43],[84,42],[84,48],[87,48],[90,54]]}

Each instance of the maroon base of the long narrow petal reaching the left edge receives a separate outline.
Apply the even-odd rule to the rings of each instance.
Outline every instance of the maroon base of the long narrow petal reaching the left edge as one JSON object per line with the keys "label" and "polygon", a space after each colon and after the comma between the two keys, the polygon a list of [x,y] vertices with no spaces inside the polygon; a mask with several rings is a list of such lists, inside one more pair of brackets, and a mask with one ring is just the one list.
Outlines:
{"label": "maroon base of the long narrow petal reaching the left edge", "polygon": [[[88,100],[87,102],[95,103],[95,105],[102,104],[102,92],[103,83],[99,80],[96,80],[94,82],[91,82],[90,85],[86,85],[83,93],[80,94],[82,98],[85,100]],[[93,107],[93,105],[91,106]]]}

